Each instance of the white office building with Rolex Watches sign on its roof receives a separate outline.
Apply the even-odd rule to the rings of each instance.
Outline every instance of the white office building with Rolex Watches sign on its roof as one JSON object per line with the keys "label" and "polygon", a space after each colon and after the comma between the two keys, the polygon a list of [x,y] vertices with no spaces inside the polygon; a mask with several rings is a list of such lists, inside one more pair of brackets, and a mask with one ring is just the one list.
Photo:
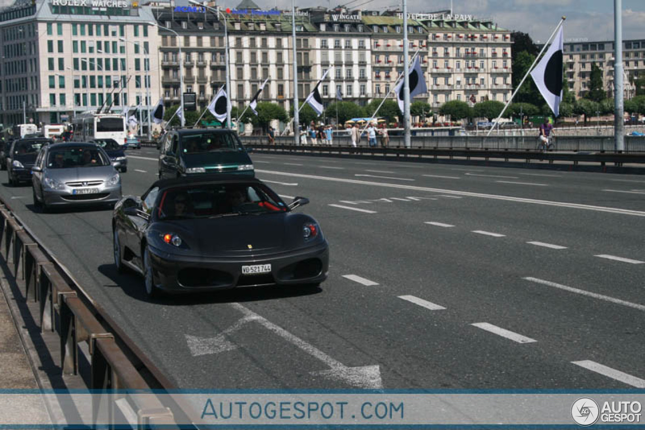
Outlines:
{"label": "white office building with Rolex Watches sign on its roof", "polygon": [[60,123],[101,105],[147,110],[159,98],[150,21],[149,7],[126,0],[45,0],[0,12],[3,124]]}

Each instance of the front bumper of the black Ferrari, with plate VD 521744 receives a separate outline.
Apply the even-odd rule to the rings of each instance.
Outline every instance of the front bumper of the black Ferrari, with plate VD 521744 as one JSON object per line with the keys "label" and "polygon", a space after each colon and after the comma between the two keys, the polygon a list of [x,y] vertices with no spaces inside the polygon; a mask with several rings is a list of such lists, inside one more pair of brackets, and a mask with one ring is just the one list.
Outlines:
{"label": "front bumper of the black Ferrari, with plate VD 521744", "polygon": [[[239,286],[319,284],[327,279],[329,247],[321,242],[309,248],[271,255],[244,253],[234,257],[183,257],[150,248],[155,285],[172,293],[213,291]],[[271,264],[271,272],[243,275],[242,266]]]}

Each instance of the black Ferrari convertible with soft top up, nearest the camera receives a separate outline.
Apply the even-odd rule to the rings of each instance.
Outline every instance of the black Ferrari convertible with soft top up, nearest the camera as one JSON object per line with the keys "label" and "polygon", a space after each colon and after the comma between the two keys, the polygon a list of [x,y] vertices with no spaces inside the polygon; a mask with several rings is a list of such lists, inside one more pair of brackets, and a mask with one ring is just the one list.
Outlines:
{"label": "black Ferrari convertible with soft top up, nearest the camera", "polygon": [[329,247],[318,222],[266,184],[206,174],[157,181],[126,196],[112,215],[116,268],[144,277],[145,291],[212,291],[237,286],[317,285]]}

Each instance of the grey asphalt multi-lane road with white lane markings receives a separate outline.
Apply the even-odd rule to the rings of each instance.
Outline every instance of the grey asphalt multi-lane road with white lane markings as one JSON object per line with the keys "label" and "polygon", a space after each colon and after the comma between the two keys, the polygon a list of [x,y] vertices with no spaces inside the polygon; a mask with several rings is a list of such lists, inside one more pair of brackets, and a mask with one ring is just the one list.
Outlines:
{"label": "grey asphalt multi-lane road with white lane markings", "polygon": [[[157,152],[128,151],[141,195]],[[645,177],[252,154],[330,242],[320,288],[144,298],[109,210],[0,195],[181,388],[645,387]]]}

